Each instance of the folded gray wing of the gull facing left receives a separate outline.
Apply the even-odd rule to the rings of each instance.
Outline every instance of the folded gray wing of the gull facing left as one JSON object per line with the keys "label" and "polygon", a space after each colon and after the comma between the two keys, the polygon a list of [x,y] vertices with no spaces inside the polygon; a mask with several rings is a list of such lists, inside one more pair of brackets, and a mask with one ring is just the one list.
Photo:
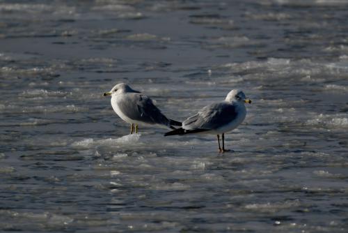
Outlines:
{"label": "folded gray wing of the gull facing left", "polygon": [[125,93],[117,104],[122,113],[129,119],[168,126],[169,120],[152,103],[148,96],[139,93]]}

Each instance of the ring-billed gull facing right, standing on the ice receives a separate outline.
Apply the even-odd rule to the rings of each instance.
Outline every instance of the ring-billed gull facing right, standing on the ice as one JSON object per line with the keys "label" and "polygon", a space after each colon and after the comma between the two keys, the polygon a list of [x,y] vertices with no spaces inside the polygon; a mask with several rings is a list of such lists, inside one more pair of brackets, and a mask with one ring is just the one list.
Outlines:
{"label": "ring-billed gull facing right, standing on the ice", "polygon": [[[217,135],[219,152],[229,151],[225,149],[225,133],[237,128],[244,121],[246,117],[244,103],[251,103],[251,100],[245,97],[243,91],[232,90],[225,100],[203,107],[197,114],[184,120],[182,128],[170,131],[164,136],[189,133],[215,134]],[[222,149],[220,134],[222,134]]]}

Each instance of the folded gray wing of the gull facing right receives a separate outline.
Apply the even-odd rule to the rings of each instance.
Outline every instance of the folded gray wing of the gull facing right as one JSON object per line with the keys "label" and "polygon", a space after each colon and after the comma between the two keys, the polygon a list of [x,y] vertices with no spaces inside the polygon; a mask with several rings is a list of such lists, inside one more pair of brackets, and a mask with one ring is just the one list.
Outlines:
{"label": "folded gray wing of the gull facing right", "polygon": [[198,114],[182,122],[182,128],[185,130],[198,128],[213,130],[230,123],[230,121],[236,118],[237,110],[235,105],[227,102],[213,103],[203,107]]}

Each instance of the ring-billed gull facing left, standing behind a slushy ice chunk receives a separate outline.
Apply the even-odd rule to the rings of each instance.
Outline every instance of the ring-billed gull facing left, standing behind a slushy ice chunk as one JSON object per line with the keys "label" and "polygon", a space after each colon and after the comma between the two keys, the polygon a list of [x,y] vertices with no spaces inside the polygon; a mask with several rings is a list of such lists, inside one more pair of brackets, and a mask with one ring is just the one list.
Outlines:
{"label": "ring-billed gull facing left, standing behind a slushy ice chunk", "polygon": [[131,124],[131,134],[134,129],[138,133],[139,124],[159,124],[171,129],[182,125],[179,121],[166,118],[148,96],[133,90],[127,84],[117,84],[111,91],[105,92],[104,96],[111,96],[113,110],[123,121]]}

